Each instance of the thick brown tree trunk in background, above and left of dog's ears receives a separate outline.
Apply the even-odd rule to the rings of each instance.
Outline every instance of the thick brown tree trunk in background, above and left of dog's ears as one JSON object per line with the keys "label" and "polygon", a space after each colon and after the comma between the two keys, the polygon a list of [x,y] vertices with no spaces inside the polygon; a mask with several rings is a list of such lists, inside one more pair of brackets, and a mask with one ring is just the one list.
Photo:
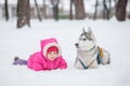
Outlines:
{"label": "thick brown tree trunk in background, above and left of dog's ears", "polygon": [[75,11],[76,11],[76,19],[86,18],[83,0],[74,0]]}

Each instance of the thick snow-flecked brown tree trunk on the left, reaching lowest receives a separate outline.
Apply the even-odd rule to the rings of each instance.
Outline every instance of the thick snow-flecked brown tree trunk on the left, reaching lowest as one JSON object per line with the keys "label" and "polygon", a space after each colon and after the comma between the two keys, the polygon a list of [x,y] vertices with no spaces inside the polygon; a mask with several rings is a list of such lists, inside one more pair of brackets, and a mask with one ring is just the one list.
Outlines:
{"label": "thick snow-flecked brown tree trunk on the left, reaching lowest", "polygon": [[17,28],[28,25],[30,27],[30,4],[29,0],[17,1]]}

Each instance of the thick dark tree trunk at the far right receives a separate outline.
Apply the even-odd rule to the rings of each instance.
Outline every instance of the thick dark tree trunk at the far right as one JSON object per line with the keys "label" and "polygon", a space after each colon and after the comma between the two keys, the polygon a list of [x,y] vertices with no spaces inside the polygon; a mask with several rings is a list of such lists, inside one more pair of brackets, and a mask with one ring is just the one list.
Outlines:
{"label": "thick dark tree trunk at the far right", "polygon": [[116,5],[116,18],[118,20],[126,20],[126,8],[128,0],[118,0]]}

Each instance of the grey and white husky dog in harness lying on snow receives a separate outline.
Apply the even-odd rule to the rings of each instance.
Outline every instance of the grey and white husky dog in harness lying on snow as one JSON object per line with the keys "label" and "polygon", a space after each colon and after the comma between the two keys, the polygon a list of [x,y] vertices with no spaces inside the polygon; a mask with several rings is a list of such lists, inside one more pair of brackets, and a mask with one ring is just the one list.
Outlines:
{"label": "grey and white husky dog in harness lying on snow", "polygon": [[109,53],[96,45],[95,38],[91,28],[79,37],[79,42],[75,44],[77,47],[77,57],[75,67],[77,69],[95,69],[99,63],[110,63]]}

